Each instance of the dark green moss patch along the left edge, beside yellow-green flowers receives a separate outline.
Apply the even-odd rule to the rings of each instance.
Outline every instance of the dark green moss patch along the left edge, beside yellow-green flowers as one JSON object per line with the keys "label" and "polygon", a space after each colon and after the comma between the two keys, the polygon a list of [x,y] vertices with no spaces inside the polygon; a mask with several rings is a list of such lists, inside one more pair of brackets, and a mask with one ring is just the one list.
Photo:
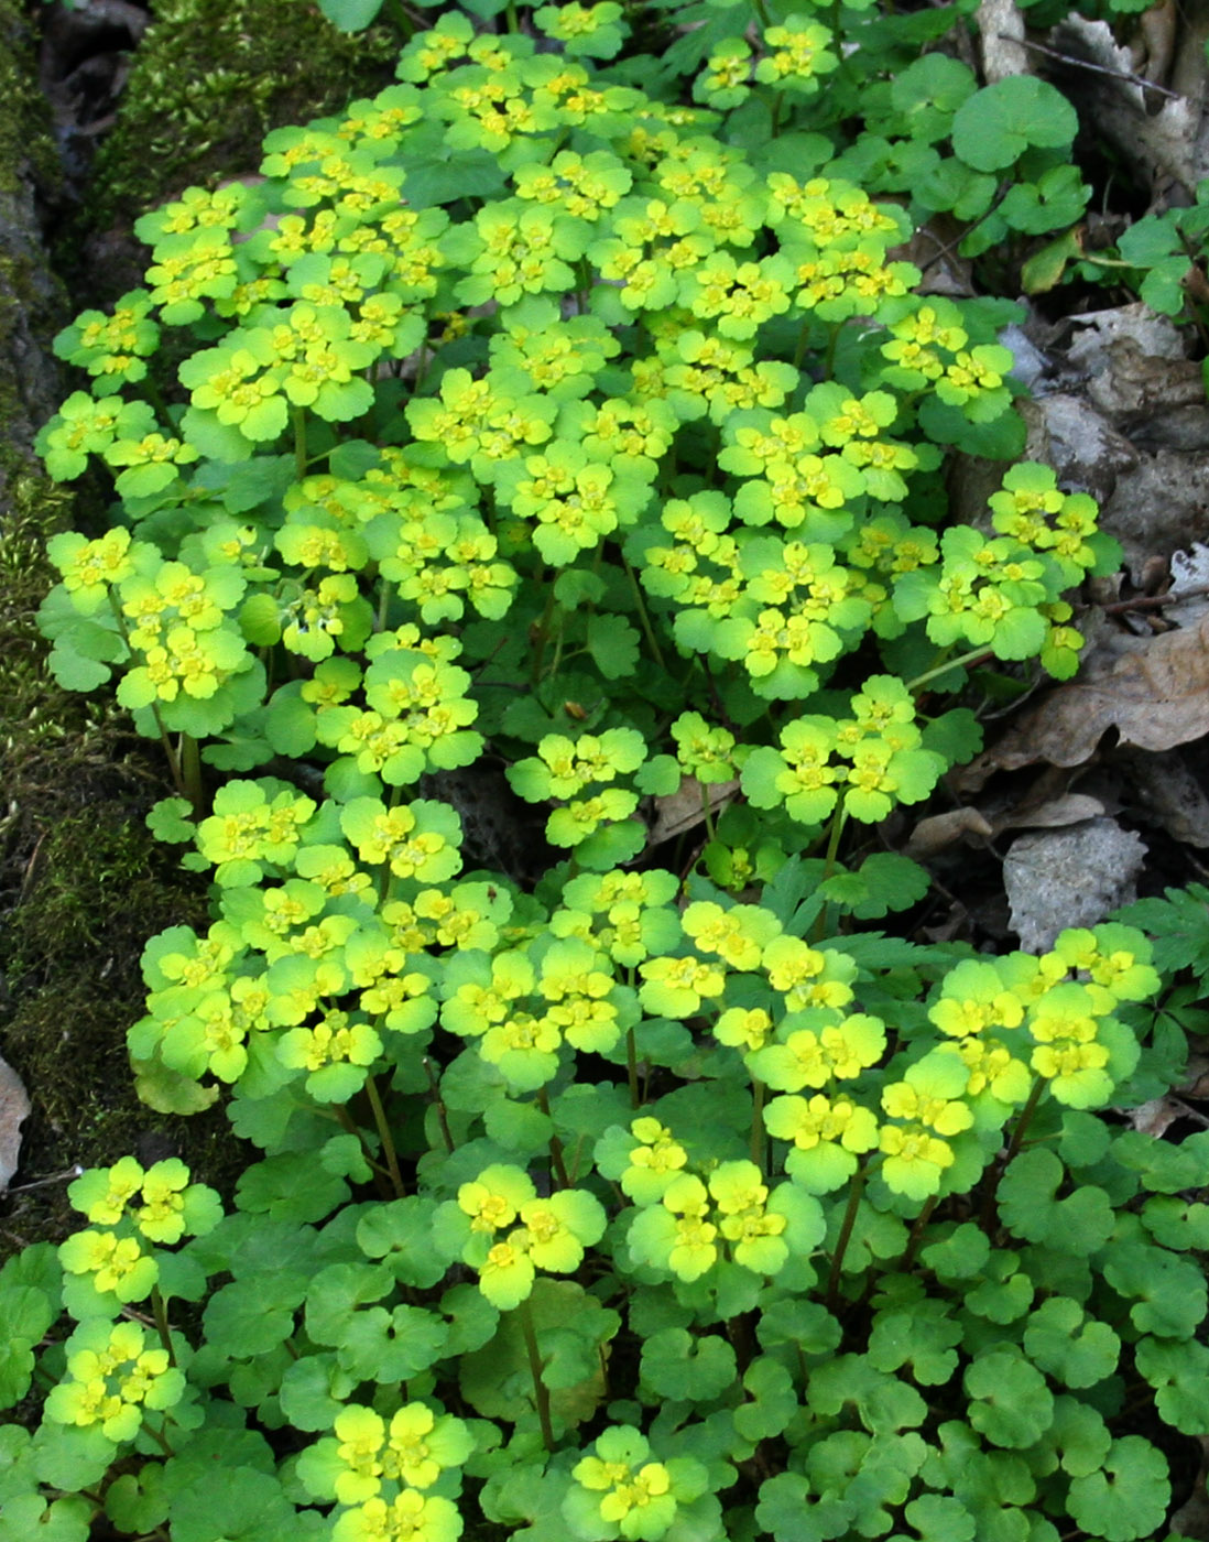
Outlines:
{"label": "dark green moss patch along the left edge, beside yellow-green flowers", "polygon": [[[143,1010],[143,944],[182,921],[205,925],[205,901],[145,828],[165,791],[150,746],[46,675],[34,614],[63,495],[34,476],[17,490],[0,540],[0,1039],[34,1104],[19,1183],[174,1150],[228,1189],[242,1158],[224,1115],[170,1119],[134,1093],[125,1032]],[[0,1257],[72,1226],[65,1186],[14,1194]]]}

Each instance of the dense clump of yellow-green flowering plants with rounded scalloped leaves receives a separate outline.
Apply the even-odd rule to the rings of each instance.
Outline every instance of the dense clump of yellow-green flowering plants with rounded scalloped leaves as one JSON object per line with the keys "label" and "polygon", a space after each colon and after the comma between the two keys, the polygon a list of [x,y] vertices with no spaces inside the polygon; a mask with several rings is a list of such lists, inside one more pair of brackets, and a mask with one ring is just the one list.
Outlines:
{"label": "dense clump of yellow-green flowering plants with rounded scalloped leaves", "polygon": [[[655,54],[483,9],[146,214],[57,344],[40,450],[117,501],[51,543],[52,666],[162,743],[211,879],[131,1058],[259,1155],[227,1214],[93,1169],[0,1271],[3,1399],[45,1392],[0,1534],[1167,1536],[1209,1147],[1103,1115],[1180,1073],[1150,944],[870,930],[928,885],[877,827],[984,685],[1075,672],[1118,555],[1018,461],[1013,307],[899,254],[959,210],[1022,264],[1073,114],[908,68],[942,12]],[[953,446],[1002,463],[981,527]],[[472,848],[477,765],[534,873]]]}

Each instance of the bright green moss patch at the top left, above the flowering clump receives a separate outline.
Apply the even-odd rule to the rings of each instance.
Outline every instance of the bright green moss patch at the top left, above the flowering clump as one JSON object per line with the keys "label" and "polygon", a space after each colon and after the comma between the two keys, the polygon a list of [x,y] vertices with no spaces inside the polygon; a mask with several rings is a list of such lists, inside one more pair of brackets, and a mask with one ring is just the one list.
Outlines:
{"label": "bright green moss patch at the top left, above the flowering clump", "polygon": [[153,11],[93,168],[94,228],[188,183],[251,173],[268,130],[393,79],[396,37],[338,32],[312,0],[154,0]]}

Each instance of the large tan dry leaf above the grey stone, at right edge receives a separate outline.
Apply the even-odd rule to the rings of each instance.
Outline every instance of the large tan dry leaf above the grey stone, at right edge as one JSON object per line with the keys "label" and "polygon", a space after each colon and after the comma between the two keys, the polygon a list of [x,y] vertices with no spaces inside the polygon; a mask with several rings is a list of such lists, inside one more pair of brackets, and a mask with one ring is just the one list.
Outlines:
{"label": "large tan dry leaf above the grey stone, at right edge", "polygon": [[1049,691],[998,745],[965,766],[961,788],[976,791],[995,771],[1038,760],[1083,765],[1110,728],[1123,745],[1138,749],[1172,749],[1209,734],[1209,617],[1150,638],[1103,672],[1089,671]]}

